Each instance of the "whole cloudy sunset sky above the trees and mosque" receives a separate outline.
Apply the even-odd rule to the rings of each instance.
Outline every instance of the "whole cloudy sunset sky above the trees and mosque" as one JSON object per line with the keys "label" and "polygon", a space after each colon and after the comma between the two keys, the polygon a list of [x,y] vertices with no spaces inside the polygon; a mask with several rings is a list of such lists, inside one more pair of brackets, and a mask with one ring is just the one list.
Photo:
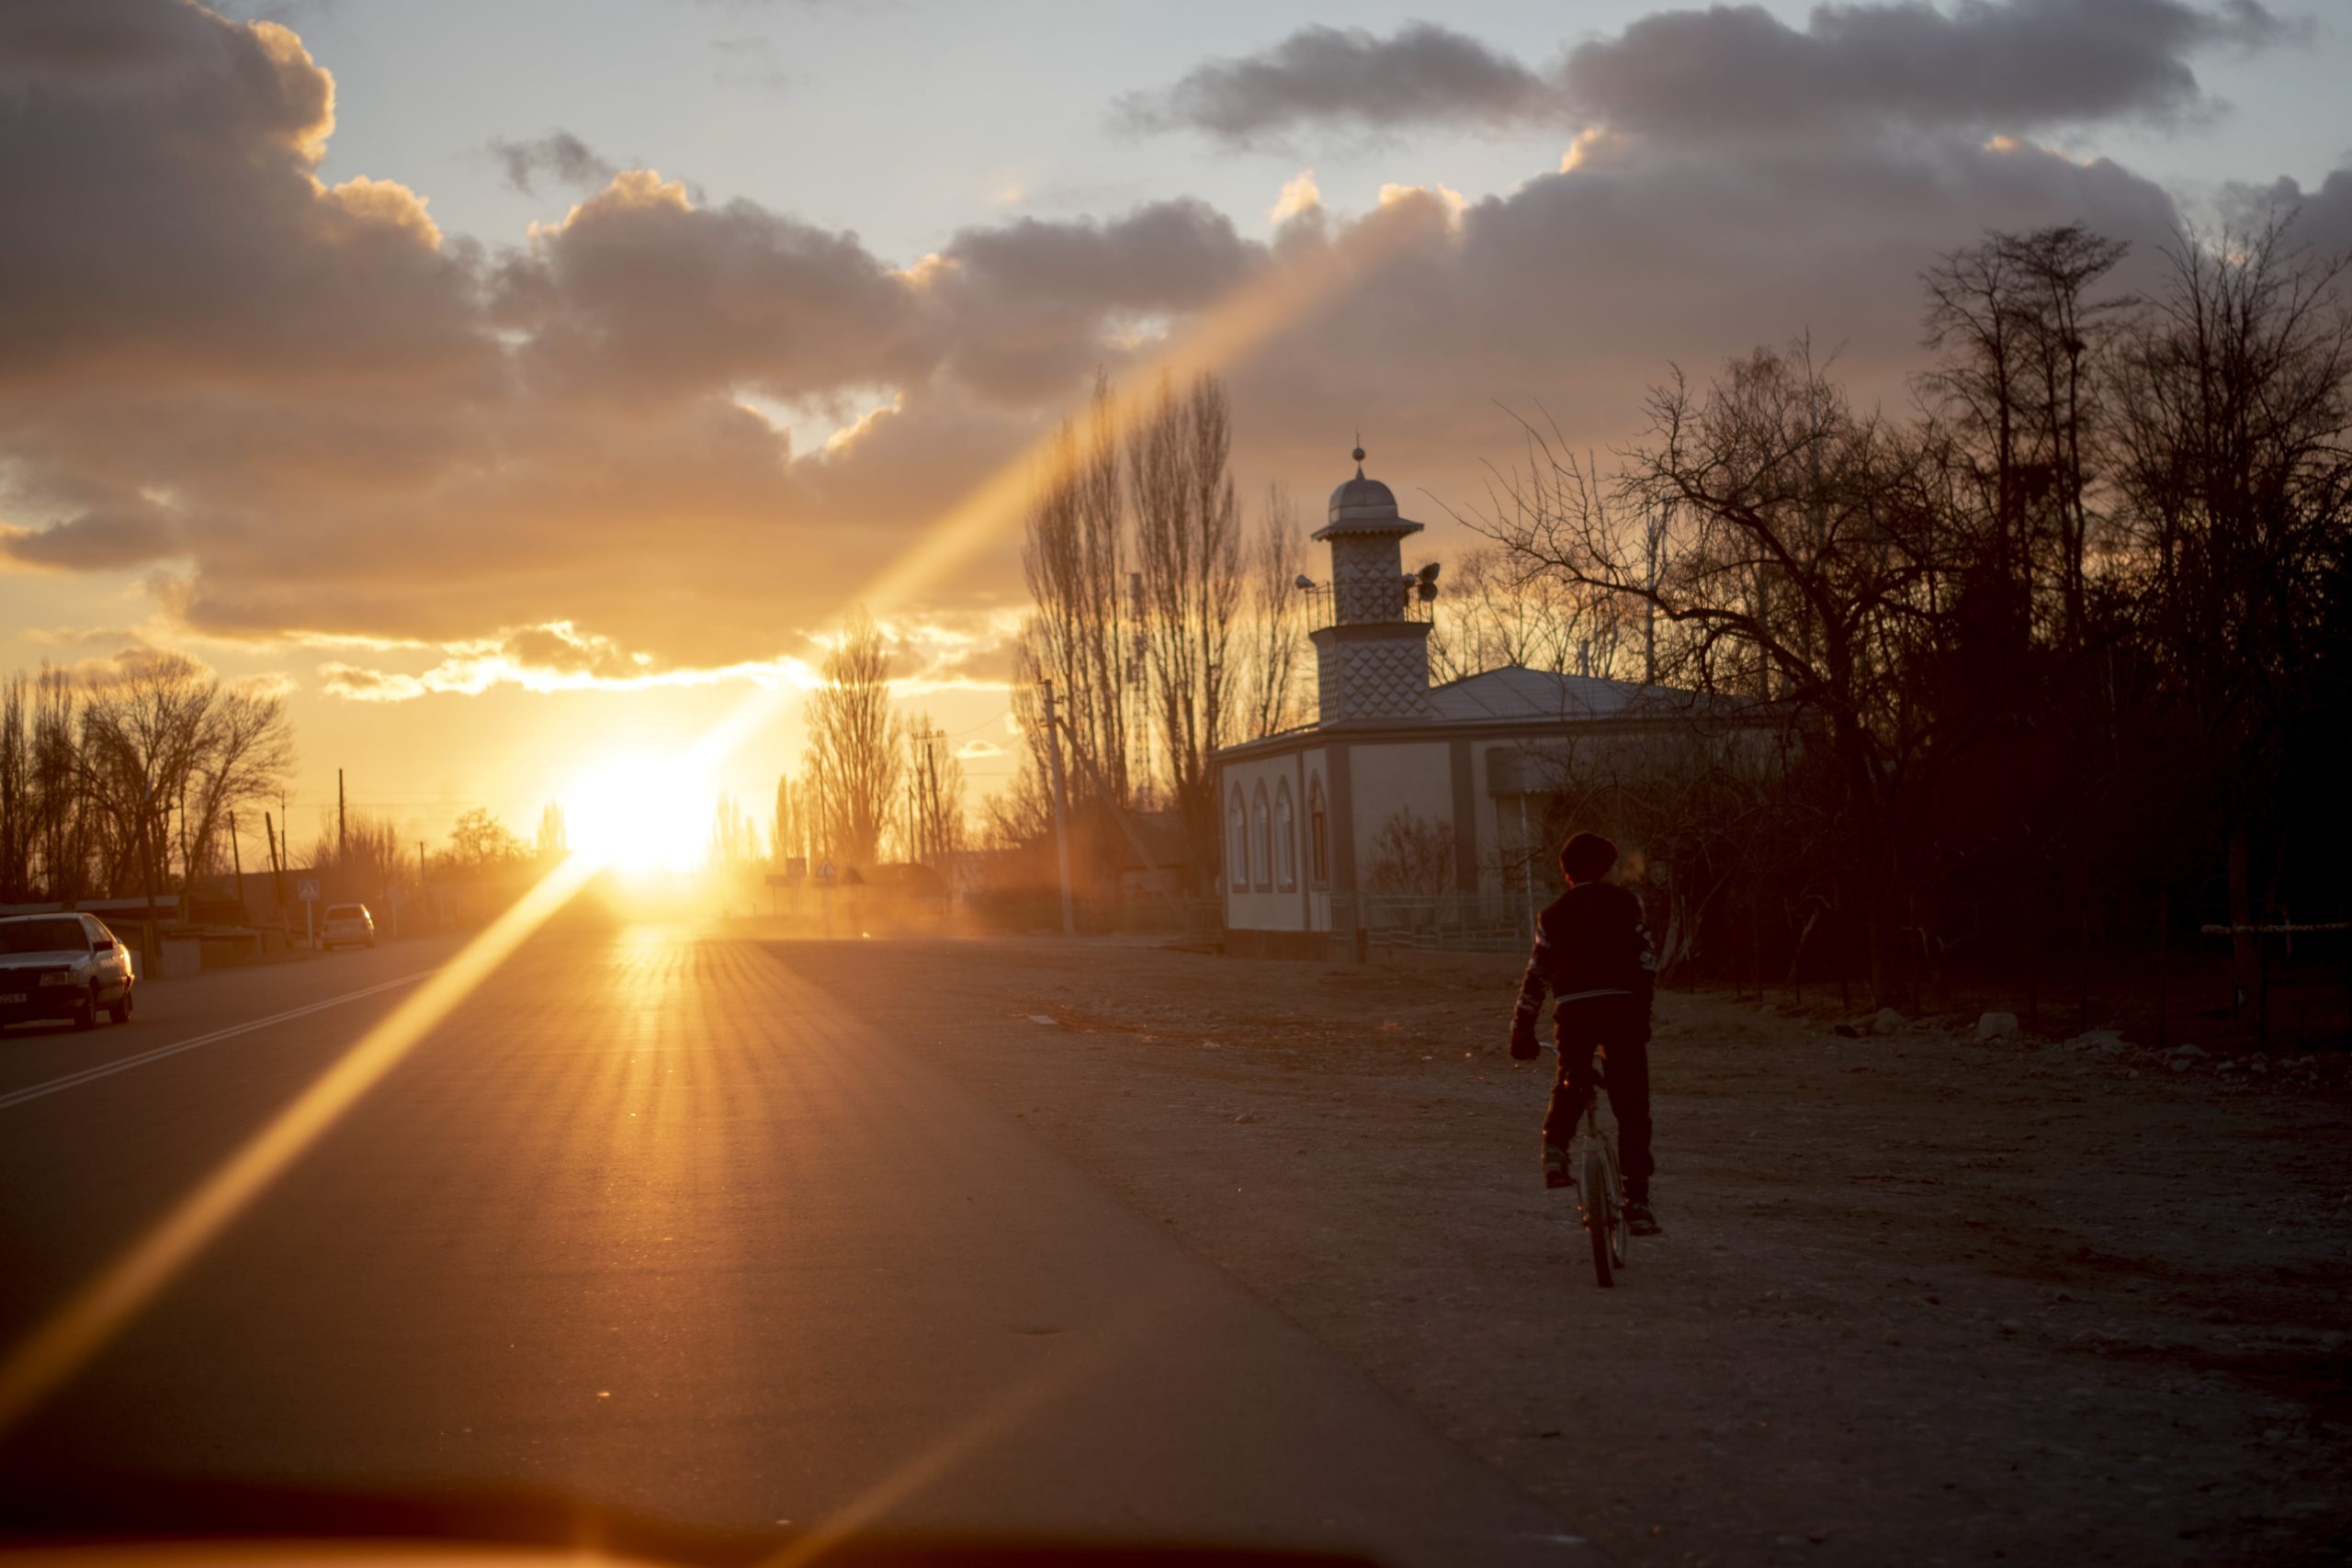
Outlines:
{"label": "whole cloudy sunset sky above the trees and mosque", "polygon": [[1014,764],[1018,515],[1101,367],[1228,378],[1244,498],[1432,522],[1515,418],[1811,334],[1919,367],[1917,273],[2300,207],[2352,247],[2352,5],[1345,12],[1047,0],[0,7],[0,668],[188,651],[350,802],[529,832],[762,696],[797,766],[870,602],[901,705]]}

